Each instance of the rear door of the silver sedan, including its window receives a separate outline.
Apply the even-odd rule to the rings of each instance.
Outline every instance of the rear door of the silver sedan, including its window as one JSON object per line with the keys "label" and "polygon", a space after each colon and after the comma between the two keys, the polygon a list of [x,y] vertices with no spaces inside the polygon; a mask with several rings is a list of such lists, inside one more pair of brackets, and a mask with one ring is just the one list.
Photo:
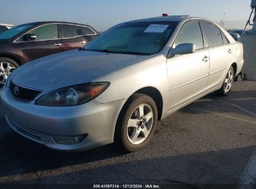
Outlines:
{"label": "rear door of the silver sedan, including its window", "polygon": [[210,52],[210,72],[207,88],[214,88],[224,80],[234,55],[234,49],[216,25],[207,21],[200,21],[200,25]]}

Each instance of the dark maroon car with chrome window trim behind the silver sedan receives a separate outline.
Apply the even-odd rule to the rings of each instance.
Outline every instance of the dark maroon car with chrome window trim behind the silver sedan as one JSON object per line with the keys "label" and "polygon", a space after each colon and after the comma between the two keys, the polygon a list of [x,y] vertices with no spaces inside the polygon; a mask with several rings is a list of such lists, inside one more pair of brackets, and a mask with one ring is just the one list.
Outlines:
{"label": "dark maroon car with chrome window trim behind the silver sedan", "polygon": [[22,64],[83,47],[98,35],[90,25],[70,22],[33,22],[0,33],[0,85]]}

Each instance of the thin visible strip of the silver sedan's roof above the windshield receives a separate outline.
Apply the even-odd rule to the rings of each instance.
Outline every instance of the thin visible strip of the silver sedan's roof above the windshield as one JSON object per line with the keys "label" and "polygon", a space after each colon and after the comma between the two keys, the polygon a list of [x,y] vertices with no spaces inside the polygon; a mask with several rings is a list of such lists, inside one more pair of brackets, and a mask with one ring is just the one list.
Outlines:
{"label": "thin visible strip of the silver sedan's roof above the windshield", "polygon": [[179,22],[184,18],[187,18],[190,16],[187,15],[176,15],[176,16],[159,16],[159,17],[151,17],[151,18],[147,18],[147,19],[139,19],[139,20],[135,20],[135,21],[128,21],[126,23],[129,22],[164,22],[164,21],[174,21],[174,22]]}

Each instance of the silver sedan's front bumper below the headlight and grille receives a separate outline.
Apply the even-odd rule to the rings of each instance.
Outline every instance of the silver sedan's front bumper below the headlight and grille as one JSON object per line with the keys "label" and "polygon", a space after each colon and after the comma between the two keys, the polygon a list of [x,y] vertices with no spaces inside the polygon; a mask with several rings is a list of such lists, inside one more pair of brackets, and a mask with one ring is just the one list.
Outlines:
{"label": "silver sedan's front bumper below the headlight and grille", "polygon": [[[78,151],[113,142],[115,123],[123,101],[100,104],[93,100],[70,107],[49,107],[21,101],[12,96],[7,86],[0,91],[6,121],[17,133],[52,149]],[[62,145],[53,136],[88,134],[76,145]]]}

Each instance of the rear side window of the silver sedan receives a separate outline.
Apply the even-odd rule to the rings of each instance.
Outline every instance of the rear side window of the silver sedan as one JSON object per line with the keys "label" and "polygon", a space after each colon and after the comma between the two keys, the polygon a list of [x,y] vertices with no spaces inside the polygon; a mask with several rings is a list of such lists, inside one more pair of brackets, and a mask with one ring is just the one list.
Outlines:
{"label": "rear side window of the silver sedan", "polygon": [[200,22],[202,28],[206,34],[207,47],[215,47],[223,45],[222,32],[210,22]]}

